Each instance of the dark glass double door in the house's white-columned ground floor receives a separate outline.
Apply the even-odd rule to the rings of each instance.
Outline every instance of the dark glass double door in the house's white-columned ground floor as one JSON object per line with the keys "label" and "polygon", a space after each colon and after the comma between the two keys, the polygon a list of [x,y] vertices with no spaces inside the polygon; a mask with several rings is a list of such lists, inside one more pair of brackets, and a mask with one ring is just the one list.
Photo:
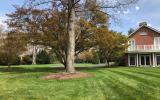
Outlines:
{"label": "dark glass double door in the house's white-columned ground floor", "polygon": [[150,55],[141,55],[141,65],[142,66],[149,66],[151,65],[150,63]]}

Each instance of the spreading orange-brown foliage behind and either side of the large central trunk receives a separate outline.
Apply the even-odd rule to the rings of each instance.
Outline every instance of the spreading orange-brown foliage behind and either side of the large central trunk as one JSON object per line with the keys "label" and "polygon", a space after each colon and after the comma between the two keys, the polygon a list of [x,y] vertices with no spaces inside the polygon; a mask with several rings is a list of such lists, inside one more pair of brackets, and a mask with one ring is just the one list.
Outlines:
{"label": "spreading orange-brown foliage behind and either side of the large central trunk", "polygon": [[[32,10],[35,12],[35,9]],[[8,25],[12,28],[14,27],[15,29],[25,32],[25,34],[28,36],[28,41],[30,41],[29,43],[32,43],[32,41],[35,39],[34,41],[37,40],[34,42],[35,44],[51,47],[58,60],[66,67],[68,43],[66,38],[66,12],[54,10],[53,12],[49,13],[44,10],[36,9],[36,16],[39,16],[39,19],[41,19],[40,22],[37,22],[41,27],[37,28],[39,33],[35,32],[36,34],[32,31],[36,28],[36,25],[32,25],[31,21],[29,21],[32,20],[32,22],[36,22],[36,20],[32,18],[33,13],[29,12],[33,11],[24,8],[17,8],[15,13],[8,15],[11,18],[8,20]],[[86,18],[88,21],[86,21],[85,18],[76,20],[75,56],[95,46],[94,31],[97,28],[96,24],[99,23],[98,21],[94,20],[93,17],[95,16],[97,16],[96,13],[94,13],[94,15],[90,16],[89,18]],[[26,20],[27,22],[25,22]],[[23,22],[25,22],[25,25]],[[105,23],[104,20],[103,23]],[[35,28],[33,28],[34,26]]]}

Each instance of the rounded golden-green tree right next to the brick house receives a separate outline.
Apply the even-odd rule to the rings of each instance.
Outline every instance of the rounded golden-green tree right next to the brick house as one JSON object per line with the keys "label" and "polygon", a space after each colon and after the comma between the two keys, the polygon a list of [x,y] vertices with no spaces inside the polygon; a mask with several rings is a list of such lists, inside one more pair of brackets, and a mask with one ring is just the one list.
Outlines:
{"label": "rounded golden-green tree right next to the brick house", "polygon": [[98,53],[109,66],[110,61],[115,61],[125,53],[128,46],[127,37],[106,28],[99,28],[97,32]]}

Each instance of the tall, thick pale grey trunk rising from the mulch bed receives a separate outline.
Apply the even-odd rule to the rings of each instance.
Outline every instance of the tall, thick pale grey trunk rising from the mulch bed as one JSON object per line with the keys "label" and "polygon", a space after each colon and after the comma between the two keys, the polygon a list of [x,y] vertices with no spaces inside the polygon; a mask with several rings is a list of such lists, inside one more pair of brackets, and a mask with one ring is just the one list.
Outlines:
{"label": "tall, thick pale grey trunk rising from the mulch bed", "polygon": [[68,73],[75,73],[74,56],[75,56],[75,8],[74,0],[69,1],[68,11],[68,44],[67,44],[67,61],[66,71]]}

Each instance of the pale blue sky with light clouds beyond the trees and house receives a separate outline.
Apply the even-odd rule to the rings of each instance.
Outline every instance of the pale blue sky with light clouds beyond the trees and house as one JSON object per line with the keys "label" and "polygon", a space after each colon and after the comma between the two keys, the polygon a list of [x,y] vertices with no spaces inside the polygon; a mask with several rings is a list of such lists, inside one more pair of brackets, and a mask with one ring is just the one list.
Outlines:
{"label": "pale blue sky with light clouds beyond the trees and house", "polygon": [[[24,0],[1,0],[0,23],[6,20],[6,14],[14,11],[13,4],[21,5]],[[160,0],[139,0],[128,8],[120,17],[119,24],[111,24],[110,28],[127,34],[130,28],[138,27],[139,22],[146,21],[150,26],[160,30]]]}

